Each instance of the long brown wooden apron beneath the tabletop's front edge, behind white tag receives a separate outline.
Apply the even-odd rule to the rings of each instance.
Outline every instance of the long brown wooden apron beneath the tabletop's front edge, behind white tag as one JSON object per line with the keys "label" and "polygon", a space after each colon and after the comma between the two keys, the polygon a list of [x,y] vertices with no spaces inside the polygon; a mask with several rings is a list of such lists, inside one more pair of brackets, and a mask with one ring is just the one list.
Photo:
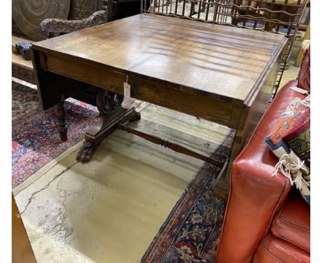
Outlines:
{"label": "long brown wooden apron beneath the tabletop's front edge, behind white tag", "polygon": [[[132,98],[204,118],[233,129],[238,125],[235,116],[241,111],[241,106],[234,105],[230,101],[220,101],[215,97],[184,92],[178,85],[173,88],[158,80],[151,81],[151,78],[140,78],[131,73],[127,77],[126,74],[105,67],[47,54],[45,54],[45,65],[42,67],[45,68],[41,70],[67,76],[117,94],[124,93],[124,83],[127,81],[131,85]],[[45,87],[40,87],[40,90],[43,88]]]}

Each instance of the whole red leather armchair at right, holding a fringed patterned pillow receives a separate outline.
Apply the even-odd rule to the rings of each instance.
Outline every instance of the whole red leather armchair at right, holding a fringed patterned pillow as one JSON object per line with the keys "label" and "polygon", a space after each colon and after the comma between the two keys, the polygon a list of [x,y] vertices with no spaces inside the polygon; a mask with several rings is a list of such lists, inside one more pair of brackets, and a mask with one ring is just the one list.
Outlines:
{"label": "whole red leather armchair at right, holding a fringed patterned pillow", "polygon": [[310,207],[281,173],[271,176],[278,159],[264,142],[292,98],[305,97],[292,86],[310,91],[310,49],[233,164],[217,263],[310,262]]}

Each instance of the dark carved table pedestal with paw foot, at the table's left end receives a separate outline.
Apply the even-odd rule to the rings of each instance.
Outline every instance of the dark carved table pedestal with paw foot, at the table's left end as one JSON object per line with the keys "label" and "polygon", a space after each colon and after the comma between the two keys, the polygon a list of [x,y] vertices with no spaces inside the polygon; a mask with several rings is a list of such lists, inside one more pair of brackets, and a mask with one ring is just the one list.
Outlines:
{"label": "dark carved table pedestal with paw foot, at the table's left end", "polygon": [[76,160],[88,162],[102,141],[112,134],[118,124],[140,120],[141,115],[134,107],[123,108],[123,96],[97,88],[96,105],[100,112],[100,120],[85,134],[83,147],[78,151]]}

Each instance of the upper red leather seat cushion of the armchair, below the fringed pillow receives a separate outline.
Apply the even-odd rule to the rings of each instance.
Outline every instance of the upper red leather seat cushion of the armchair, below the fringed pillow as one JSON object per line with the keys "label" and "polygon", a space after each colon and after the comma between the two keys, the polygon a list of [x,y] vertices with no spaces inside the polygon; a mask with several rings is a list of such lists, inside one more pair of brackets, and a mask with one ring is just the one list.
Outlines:
{"label": "upper red leather seat cushion of the armchair, below the fringed pillow", "polygon": [[296,189],[292,189],[275,215],[271,231],[276,237],[310,252],[310,206]]}

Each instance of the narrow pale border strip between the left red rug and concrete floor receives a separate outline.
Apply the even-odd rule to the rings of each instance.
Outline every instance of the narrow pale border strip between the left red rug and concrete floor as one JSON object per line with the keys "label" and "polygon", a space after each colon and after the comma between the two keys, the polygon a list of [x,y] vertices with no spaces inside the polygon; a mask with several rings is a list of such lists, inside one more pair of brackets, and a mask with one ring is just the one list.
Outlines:
{"label": "narrow pale border strip between the left red rug and concrete floor", "polygon": [[36,180],[41,178],[41,176],[43,176],[45,173],[47,173],[47,171],[49,171],[55,165],[57,165],[58,162],[61,162],[61,160],[65,159],[67,156],[69,156],[69,154],[72,154],[74,151],[81,148],[81,146],[83,145],[83,142],[84,142],[84,139],[81,140],[80,142],[76,143],[76,145],[74,145],[74,146],[70,147],[69,149],[67,149],[66,151],[64,151],[62,154],[60,154],[59,156],[54,158],[54,160],[51,160],[50,162],[48,162],[47,165],[44,165],[43,167],[41,167],[41,169],[36,171],[36,173],[32,174],[32,176],[30,176],[27,180],[25,180],[20,185],[18,185],[14,189],[12,189],[12,193],[14,194],[14,196],[16,196],[18,193],[20,193],[25,188],[30,186],[33,182],[35,182]]}

